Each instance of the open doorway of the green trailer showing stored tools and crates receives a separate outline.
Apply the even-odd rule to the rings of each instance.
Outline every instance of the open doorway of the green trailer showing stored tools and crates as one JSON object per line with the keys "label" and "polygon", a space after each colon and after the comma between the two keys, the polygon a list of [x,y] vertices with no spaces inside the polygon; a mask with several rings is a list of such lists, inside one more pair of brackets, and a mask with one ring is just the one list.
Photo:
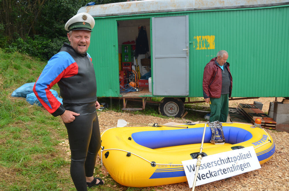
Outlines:
{"label": "open doorway of the green trailer showing stored tools and crates", "polygon": [[120,93],[151,95],[150,19],[119,20],[117,35]]}

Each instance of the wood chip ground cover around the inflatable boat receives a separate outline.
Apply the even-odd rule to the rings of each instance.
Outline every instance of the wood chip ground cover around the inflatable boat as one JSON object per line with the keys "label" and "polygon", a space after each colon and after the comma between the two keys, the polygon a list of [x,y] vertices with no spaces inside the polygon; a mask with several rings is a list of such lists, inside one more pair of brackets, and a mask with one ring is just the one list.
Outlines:
{"label": "wood chip ground cover around the inflatable boat", "polygon": [[[278,98],[279,99],[279,98]],[[236,100],[229,103],[230,107],[234,107],[234,104],[238,103],[253,103],[253,101],[259,101],[264,104],[262,111],[268,111],[268,104],[275,101],[275,98],[259,98],[258,100]],[[278,101],[282,101],[280,98]],[[265,109],[264,109],[265,108]],[[267,111],[266,111],[267,110]],[[100,131],[103,132],[108,128],[116,127],[118,119],[124,119],[130,123],[159,123],[164,124],[168,122],[186,123],[186,119],[164,119],[160,117],[154,117],[149,115],[133,115],[130,113],[117,113],[110,110],[105,112],[98,112]],[[192,121],[193,122],[193,121]],[[205,121],[200,121],[204,123]],[[257,190],[257,191],[275,191],[275,190],[289,190],[289,133],[277,132],[275,130],[267,130],[273,140],[275,141],[276,151],[273,157],[266,163],[261,165],[260,169],[247,172],[241,175],[230,177],[227,179],[214,181],[201,186],[197,186],[195,190],[211,191],[211,190]],[[62,144],[62,143],[61,143]],[[68,157],[70,155],[69,148],[67,148],[68,142],[63,144],[67,150]],[[100,163],[100,158],[97,157],[97,162]],[[103,166],[101,169],[105,177],[108,175],[107,170]],[[111,187],[116,187],[116,184]],[[113,189],[113,188],[112,188]],[[115,188],[115,190],[128,190],[127,187],[121,186]],[[189,191],[191,188],[188,186],[188,182],[168,184],[162,186],[154,186],[148,188],[142,188],[140,190],[170,190],[170,191]]]}

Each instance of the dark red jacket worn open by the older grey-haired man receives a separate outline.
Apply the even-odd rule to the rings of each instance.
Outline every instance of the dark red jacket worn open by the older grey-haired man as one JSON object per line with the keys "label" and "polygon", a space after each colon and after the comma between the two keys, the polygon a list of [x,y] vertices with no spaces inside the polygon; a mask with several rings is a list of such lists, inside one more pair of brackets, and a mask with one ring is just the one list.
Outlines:
{"label": "dark red jacket worn open by the older grey-haired man", "polygon": [[[203,75],[203,94],[204,98],[220,98],[222,91],[222,69],[216,63],[216,58],[213,58],[204,69]],[[229,98],[232,93],[233,80],[230,72],[230,64],[226,62],[227,69],[229,71],[230,87],[229,87]]]}

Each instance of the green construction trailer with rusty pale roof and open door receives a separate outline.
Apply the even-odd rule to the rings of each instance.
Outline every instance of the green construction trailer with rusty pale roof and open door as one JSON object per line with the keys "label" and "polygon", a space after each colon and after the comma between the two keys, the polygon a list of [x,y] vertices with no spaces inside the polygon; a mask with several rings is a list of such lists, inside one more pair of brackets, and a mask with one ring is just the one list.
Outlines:
{"label": "green construction trailer with rusty pale roof and open door", "polygon": [[[81,12],[95,18],[88,53],[97,96],[123,99],[123,109],[144,109],[152,97],[163,97],[159,111],[182,116],[184,103],[192,103],[185,98],[203,97],[203,70],[218,50],[229,53],[232,97],[289,97],[289,0],[146,0],[84,6]],[[122,94],[119,54],[141,26],[149,42],[151,92],[143,87]],[[145,72],[145,55],[129,58]],[[142,101],[142,108],[126,108],[131,99]]]}

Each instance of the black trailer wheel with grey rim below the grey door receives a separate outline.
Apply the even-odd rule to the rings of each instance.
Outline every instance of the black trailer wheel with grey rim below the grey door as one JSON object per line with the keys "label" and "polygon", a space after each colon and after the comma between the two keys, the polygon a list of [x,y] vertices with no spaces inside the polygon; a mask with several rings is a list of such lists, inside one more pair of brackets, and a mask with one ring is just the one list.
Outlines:
{"label": "black trailer wheel with grey rim below the grey door", "polygon": [[185,106],[179,98],[164,98],[159,104],[159,113],[168,117],[181,117]]}

